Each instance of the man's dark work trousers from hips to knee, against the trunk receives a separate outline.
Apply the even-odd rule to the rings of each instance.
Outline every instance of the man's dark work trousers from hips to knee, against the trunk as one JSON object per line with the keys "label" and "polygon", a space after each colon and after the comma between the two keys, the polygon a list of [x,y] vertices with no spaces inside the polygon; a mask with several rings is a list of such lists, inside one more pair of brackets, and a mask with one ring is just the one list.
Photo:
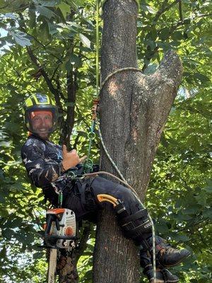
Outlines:
{"label": "man's dark work trousers from hips to knee, against the trunk", "polygon": [[[100,194],[110,195],[121,200],[129,214],[134,214],[142,209],[141,204],[129,188],[100,177],[79,179],[71,189],[64,190],[63,207],[73,210],[76,219],[81,220],[86,218],[88,214],[98,212],[98,209],[101,209],[102,205],[104,206],[103,203],[98,203],[97,196]],[[91,203],[92,199],[93,204]]]}

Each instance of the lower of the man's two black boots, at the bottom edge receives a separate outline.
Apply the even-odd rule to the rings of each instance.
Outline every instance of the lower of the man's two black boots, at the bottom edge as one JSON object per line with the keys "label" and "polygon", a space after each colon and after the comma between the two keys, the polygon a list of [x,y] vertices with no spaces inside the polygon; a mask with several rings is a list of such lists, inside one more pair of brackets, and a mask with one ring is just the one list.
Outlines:
{"label": "lower of the man's two black boots, at the bottom edge", "polygon": [[151,262],[151,254],[148,250],[140,250],[140,265],[143,267],[143,274],[148,277],[150,283],[176,283],[179,278],[166,269],[156,272],[156,280],[154,282],[153,265]]}

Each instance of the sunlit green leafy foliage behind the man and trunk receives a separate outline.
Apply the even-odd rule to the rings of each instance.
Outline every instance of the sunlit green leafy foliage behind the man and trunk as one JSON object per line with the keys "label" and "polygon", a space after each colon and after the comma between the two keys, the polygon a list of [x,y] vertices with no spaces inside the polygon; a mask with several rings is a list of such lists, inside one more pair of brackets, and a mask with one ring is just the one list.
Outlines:
{"label": "sunlit green leafy foliage behind the man and trunk", "polygon": [[[158,232],[192,251],[192,257],[173,270],[181,282],[209,283],[211,4],[139,3],[139,67],[152,74],[170,48],[177,51],[184,67],[155,158],[146,205],[157,219]],[[26,139],[21,107],[35,91],[58,97],[61,129],[71,131],[69,114],[74,109],[71,146],[86,154],[95,93],[95,1],[0,0],[0,11],[0,281],[45,282],[45,254],[37,248],[37,231],[42,229],[46,205],[41,190],[28,183],[21,164],[20,146]],[[54,134],[54,141],[59,136],[60,132]],[[98,141],[93,157],[98,161]],[[78,262],[80,282],[91,282],[93,237]]]}

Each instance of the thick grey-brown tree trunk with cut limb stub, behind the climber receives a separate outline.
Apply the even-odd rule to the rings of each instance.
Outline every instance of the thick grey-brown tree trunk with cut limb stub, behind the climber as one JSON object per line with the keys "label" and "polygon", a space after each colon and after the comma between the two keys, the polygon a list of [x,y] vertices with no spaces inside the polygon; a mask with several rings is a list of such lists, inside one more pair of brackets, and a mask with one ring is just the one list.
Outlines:
{"label": "thick grey-brown tree trunk with cut limb stub, behind the climber", "polygon": [[[107,0],[103,8],[102,81],[124,67],[138,67],[134,0]],[[167,52],[155,74],[122,71],[105,84],[100,96],[100,125],[105,145],[126,180],[146,195],[160,135],[182,76],[175,52]],[[117,175],[101,152],[101,168]],[[139,282],[138,249],[126,240],[114,212],[103,212],[97,228],[94,283]]]}

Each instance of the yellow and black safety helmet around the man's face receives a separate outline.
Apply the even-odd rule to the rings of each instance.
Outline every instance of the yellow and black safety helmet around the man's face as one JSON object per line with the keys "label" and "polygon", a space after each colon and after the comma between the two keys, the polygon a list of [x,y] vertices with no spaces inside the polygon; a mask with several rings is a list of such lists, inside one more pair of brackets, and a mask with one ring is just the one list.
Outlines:
{"label": "yellow and black safety helmet around the man's face", "polygon": [[36,130],[33,129],[32,117],[36,115],[37,112],[48,112],[52,117],[52,127],[48,129],[48,133],[54,132],[57,129],[58,122],[58,110],[57,105],[55,104],[52,98],[49,98],[47,94],[35,93],[32,96],[26,98],[23,105],[23,121],[25,127],[28,131],[37,134]]}

